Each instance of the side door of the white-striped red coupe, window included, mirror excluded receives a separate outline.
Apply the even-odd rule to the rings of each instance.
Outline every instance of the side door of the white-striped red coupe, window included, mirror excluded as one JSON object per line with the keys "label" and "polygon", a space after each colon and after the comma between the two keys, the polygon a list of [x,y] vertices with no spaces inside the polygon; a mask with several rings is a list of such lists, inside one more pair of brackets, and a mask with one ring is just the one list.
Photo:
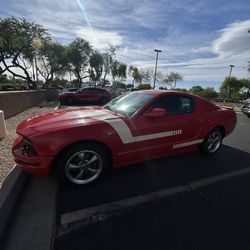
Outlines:
{"label": "side door of the white-striped red coupe, window included, mirror excluded", "polygon": [[[146,113],[155,108],[165,109],[166,114],[148,117]],[[163,156],[185,145],[183,143],[191,145],[200,131],[195,100],[190,96],[163,96],[137,118],[136,128],[139,135],[137,148],[144,156]]]}

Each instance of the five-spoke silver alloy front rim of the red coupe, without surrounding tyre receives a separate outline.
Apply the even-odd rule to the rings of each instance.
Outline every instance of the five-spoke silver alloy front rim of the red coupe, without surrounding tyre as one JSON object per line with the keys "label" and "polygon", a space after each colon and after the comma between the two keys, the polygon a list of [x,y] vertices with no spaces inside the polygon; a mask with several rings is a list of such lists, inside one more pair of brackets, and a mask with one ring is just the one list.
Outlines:
{"label": "five-spoke silver alloy front rim of the red coupe, without surrounding tyre", "polygon": [[102,157],[95,151],[82,150],[73,154],[65,165],[66,177],[75,184],[87,184],[101,174]]}

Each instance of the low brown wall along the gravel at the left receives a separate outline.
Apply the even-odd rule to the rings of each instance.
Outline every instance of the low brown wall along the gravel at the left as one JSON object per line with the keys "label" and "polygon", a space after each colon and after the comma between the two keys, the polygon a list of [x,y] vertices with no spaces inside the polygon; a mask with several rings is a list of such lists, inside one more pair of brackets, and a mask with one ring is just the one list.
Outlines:
{"label": "low brown wall along the gravel at the left", "polygon": [[5,119],[8,119],[25,109],[36,106],[46,100],[58,100],[58,92],[56,90],[0,92],[0,110],[4,111]]}

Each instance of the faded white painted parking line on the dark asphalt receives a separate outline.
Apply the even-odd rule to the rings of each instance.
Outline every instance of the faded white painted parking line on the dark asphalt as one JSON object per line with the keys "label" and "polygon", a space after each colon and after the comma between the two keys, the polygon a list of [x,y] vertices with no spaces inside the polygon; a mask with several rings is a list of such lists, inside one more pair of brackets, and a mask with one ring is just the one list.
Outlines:
{"label": "faded white painted parking line on the dark asphalt", "polygon": [[194,190],[200,187],[204,187],[207,185],[211,185],[217,182],[221,182],[221,181],[233,178],[233,177],[237,177],[237,176],[241,176],[241,175],[249,174],[249,173],[250,173],[250,168],[244,168],[244,169],[240,169],[237,171],[232,171],[232,172],[228,172],[225,174],[205,178],[202,180],[193,181],[187,184],[186,186],[170,187],[170,188],[159,190],[157,192],[152,192],[152,193],[148,193],[144,195],[138,195],[132,198],[110,202],[110,203],[103,204],[100,206],[95,206],[95,207],[81,209],[81,210],[70,212],[70,213],[65,213],[65,214],[62,214],[61,216],[61,225],[92,218],[94,216],[100,216],[102,219],[104,219],[105,215],[121,210],[123,208],[129,208],[129,207],[133,207],[135,205],[139,205],[148,201],[171,196],[177,193],[183,193],[189,190],[187,189],[187,187],[191,188],[191,190]]}

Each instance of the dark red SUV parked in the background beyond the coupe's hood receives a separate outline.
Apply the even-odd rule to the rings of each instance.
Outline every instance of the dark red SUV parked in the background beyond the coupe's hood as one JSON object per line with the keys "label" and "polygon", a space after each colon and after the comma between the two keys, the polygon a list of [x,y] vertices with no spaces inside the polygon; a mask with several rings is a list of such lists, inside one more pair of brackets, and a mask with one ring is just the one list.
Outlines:
{"label": "dark red SUV parked in the background beyond the coupe's hood", "polygon": [[111,100],[111,94],[100,88],[82,88],[75,92],[65,92],[59,95],[62,103],[69,105],[74,103],[100,103],[104,105]]}

